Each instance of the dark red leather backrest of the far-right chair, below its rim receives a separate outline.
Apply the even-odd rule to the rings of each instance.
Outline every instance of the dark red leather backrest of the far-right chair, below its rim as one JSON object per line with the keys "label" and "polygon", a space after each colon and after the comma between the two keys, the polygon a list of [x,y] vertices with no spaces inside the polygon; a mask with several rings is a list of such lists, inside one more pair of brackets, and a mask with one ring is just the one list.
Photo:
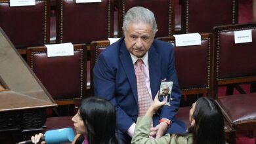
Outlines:
{"label": "dark red leather backrest of the far-right chair, below its rim", "polygon": [[[234,31],[251,30],[252,42],[235,43]],[[214,27],[215,75],[219,85],[256,81],[256,23]]]}

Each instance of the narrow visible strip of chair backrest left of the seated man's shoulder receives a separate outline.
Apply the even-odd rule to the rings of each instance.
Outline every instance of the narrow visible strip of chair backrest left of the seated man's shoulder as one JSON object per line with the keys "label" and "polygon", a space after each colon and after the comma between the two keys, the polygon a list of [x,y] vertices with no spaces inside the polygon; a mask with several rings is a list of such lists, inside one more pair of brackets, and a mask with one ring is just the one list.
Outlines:
{"label": "narrow visible strip of chair backrest left of the seated man's shoulder", "polygon": [[95,63],[97,62],[98,55],[100,52],[105,50],[110,45],[110,41],[104,40],[104,41],[92,41],[91,42],[91,75],[90,75],[90,87],[91,87],[91,94],[94,94],[94,86],[93,86],[93,67],[95,67]]}

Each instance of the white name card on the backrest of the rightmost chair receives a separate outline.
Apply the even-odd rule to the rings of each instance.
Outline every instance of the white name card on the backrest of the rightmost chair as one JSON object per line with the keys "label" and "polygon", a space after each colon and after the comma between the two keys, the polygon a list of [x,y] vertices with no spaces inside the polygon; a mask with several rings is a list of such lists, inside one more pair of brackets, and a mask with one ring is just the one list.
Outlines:
{"label": "white name card on the backrest of the rightmost chair", "polygon": [[234,31],[235,43],[249,43],[252,42],[251,29],[243,31]]}

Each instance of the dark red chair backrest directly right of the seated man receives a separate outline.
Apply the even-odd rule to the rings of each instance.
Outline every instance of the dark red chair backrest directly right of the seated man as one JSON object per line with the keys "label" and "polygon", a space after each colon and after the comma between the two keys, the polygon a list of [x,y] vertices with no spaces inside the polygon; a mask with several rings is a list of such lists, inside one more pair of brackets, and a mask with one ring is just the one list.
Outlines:
{"label": "dark red chair backrest directly right of the seated man", "polygon": [[[159,37],[175,46],[175,37]],[[175,68],[182,95],[213,94],[211,33],[201,34],[202,45],[175,46]]]}

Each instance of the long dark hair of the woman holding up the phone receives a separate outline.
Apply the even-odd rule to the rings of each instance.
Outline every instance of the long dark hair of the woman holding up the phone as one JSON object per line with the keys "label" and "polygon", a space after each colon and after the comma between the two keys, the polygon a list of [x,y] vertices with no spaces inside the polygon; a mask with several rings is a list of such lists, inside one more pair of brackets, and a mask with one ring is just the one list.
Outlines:
{"label": "long dark hair of the woman holding up the phone", "polygon": [[199,98],[193,113],[195,125],[188,129],[193,144],[224,144],[224,119],[221,109],[211,98]]}

